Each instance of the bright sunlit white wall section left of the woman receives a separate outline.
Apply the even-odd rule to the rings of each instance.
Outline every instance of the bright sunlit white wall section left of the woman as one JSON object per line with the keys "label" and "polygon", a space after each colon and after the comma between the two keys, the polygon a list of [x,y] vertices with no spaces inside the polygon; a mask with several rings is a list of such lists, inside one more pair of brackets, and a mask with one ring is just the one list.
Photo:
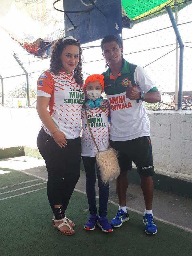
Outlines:
{"label": "bright sunlit white wall section left of the woman", "polygon": [[0,124],[0,148],[37,148],[36,140],[42,123],[36,108],[0,107]]}

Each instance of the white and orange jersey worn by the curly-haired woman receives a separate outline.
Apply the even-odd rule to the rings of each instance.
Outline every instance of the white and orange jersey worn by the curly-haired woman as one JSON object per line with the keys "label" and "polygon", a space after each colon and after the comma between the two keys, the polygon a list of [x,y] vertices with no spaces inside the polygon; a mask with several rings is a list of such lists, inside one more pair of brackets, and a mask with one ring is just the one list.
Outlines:
{"label": "white and orange jersey worn by the curly-haired woman", "polygon": [[[45,71],[37,81],[37,96],[50,97],[49,113],[56,127],[65,133],[67,139],[80,136],[85,94],[83,86],[76,83],[73,73],[61,71],[55,75]],[[43,129],[51,135],[45,125]]]}

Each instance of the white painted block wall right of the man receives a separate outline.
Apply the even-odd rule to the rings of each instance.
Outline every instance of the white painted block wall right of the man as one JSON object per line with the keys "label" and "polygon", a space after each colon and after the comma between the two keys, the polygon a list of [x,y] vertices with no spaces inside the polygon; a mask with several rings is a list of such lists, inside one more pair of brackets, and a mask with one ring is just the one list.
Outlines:
{"label": "white painted block wall right of the man", "polygon": [[192,111],[147,111],[154,166],[192,175]]}

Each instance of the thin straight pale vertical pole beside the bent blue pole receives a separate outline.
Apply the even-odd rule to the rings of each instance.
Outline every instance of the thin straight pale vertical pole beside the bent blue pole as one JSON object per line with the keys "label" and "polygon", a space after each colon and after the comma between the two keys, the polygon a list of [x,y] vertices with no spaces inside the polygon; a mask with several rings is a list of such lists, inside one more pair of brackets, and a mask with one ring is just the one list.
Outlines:
{"label": "thin straight pale vertical pole beside the bent blue pole", "polygon": [[[178,5],[175,0],[175,22],[178,24]],[[175,110],[178,110],[179,43],[175,39]]]}

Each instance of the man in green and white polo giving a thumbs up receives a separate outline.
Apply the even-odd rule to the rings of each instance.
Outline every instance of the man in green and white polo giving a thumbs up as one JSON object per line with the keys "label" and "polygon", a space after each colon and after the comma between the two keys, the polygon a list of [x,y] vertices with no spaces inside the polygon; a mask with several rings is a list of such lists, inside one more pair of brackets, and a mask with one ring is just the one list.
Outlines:
{"label": "man in green and white polo giving a thumbs up", "polygon": [[121,168],[116,181],[119,210],[111,220],[111,225],[120,227],[129,220],[126,209],[126,191],[129,185],[127,171],[131,170],[133,161],[141,177],[145,200],[145,232],[156,234],[152,211],[154,166],[145,102],[160,102],[161,95],[142,67],[123,59],[123,46],[116,36],[107,35],[101,41],[101,48],[106,66],[109,66],[102,74],[104,90],[111,107],[110,145],[119,152]]}

